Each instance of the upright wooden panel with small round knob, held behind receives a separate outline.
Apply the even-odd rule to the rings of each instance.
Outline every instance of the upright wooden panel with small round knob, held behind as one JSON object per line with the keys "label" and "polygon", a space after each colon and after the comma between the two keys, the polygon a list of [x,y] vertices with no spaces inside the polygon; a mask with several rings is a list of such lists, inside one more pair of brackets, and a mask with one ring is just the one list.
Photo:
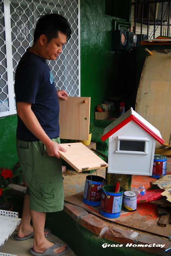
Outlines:
{"label": "upright wooden panel with small round knob, held behind", "polygon": [[67,97],[65,101],[59,99],[59,108],[60,138],[88,140],[90,97]]}

